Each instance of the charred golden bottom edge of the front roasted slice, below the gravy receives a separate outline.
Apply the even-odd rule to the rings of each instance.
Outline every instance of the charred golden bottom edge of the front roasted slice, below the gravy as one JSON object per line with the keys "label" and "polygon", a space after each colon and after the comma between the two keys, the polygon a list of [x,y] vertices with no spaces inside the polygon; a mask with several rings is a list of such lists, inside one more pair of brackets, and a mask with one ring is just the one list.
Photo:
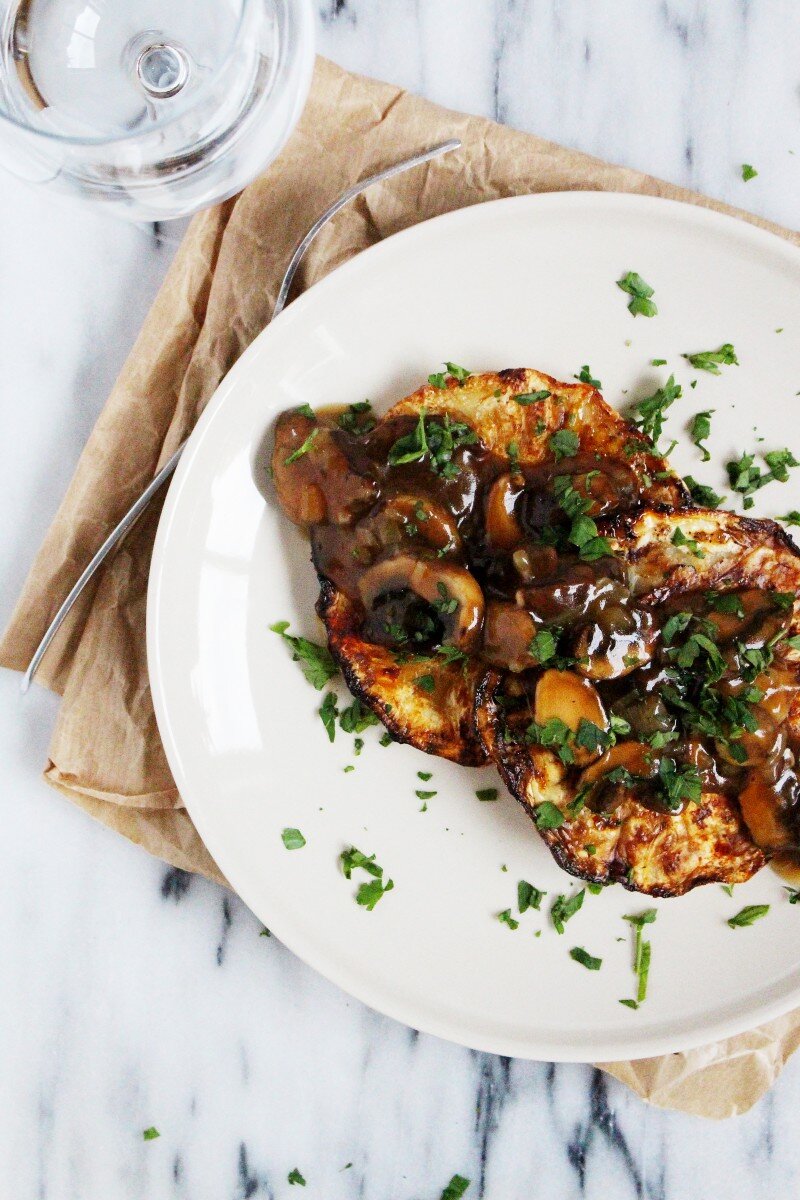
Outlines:
{"label": "charred golden bottom edge of the front roasted slice, below the gravy", "polygon": [[[503,677],[491,671],[477,690],[476,724],[487,752],[534,820],[543,803],[567,814],[577,788],[558,756],[504,738],[501,686]],[[571,875],[655,896],[682,895],[698,883],[742,883],[765,862],[735,805],[715,793],[674,816],[626,796],[608,812],[584,806],[575,818],[567,816],[558,828],[540,827],[540,833]]]}

